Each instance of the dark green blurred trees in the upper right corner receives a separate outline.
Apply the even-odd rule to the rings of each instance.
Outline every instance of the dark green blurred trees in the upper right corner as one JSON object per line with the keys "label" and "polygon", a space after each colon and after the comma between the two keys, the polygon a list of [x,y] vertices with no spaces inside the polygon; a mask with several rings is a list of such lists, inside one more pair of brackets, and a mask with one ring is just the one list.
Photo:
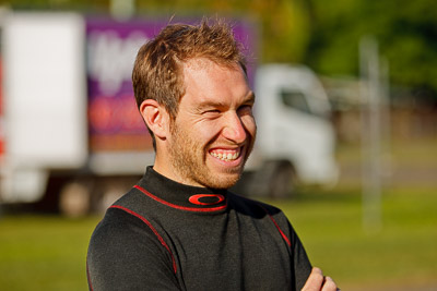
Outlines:
{"label": "dark green blurred trees in the upper right corner", "polygon": [[374,35],[394,84],[437,98],[437,10],[433,0],[310,0],[311,40],[305,62],[323,74],[357,74],[358,43]]}

